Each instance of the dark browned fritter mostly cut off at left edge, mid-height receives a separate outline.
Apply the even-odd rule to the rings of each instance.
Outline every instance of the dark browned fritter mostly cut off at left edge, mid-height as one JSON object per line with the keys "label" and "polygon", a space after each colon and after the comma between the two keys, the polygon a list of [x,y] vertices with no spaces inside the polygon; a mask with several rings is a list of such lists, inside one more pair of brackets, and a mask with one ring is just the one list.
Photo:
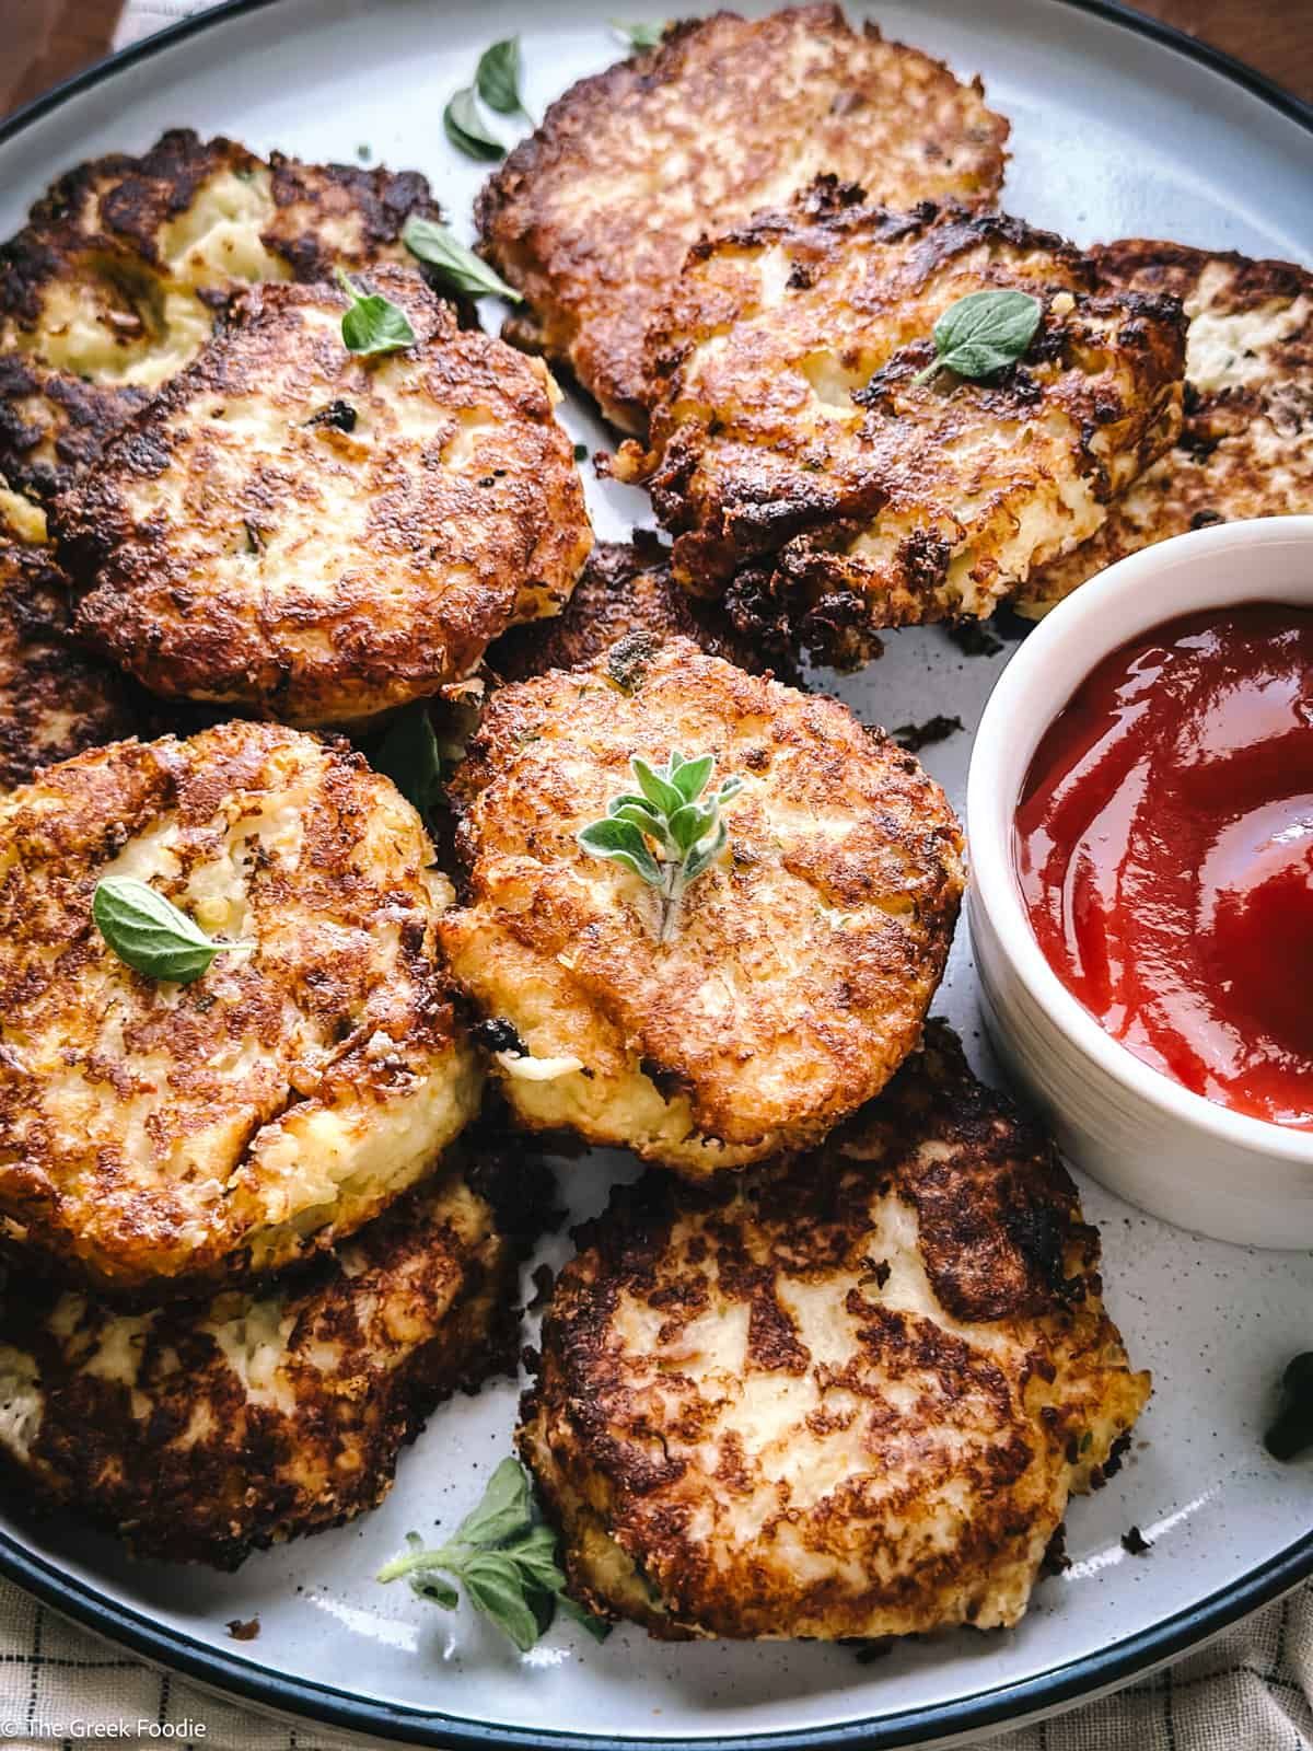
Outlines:
{"label": "dark browned fritter mostly cut off at left edge, mid-height", "polygon": [[51,553],[0,536],[0,790],[121,735],[154,734],[152,702],[68,637]]}

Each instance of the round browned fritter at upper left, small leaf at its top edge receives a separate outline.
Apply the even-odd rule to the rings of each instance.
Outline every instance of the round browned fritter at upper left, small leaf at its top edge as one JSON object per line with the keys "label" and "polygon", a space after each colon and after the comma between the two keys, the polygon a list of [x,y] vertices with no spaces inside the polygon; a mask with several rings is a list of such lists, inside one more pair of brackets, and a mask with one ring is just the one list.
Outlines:
{"label": "round browned fritter at upper left, small leaf at its top edge", "polygon": [[413,347],[350,354],[334,285],[254,287],[56,501],[79,632],[156,693],[352,723],[567,601],[592,531],[546,368],[369,284]]}

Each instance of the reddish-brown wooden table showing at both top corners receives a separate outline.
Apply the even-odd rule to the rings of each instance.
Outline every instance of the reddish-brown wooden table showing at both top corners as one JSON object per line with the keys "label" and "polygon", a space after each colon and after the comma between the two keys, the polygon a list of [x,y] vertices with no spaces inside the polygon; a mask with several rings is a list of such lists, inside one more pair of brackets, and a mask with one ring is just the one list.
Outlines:
{"label": "reddish-brown wooden table showing at both top corners", "polygon": [[[0,0],[0,114],[105,54],[119,11],[121,0]],[[1311,0],[1140,0],[1140,11],[1313,102]]]}

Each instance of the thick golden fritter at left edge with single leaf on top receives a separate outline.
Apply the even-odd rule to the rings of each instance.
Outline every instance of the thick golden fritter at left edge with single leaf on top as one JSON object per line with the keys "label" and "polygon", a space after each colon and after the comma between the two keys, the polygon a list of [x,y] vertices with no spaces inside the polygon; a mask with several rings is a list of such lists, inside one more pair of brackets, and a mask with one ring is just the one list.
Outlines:
{"label": "thick golden fritter at left edge with single leaf on top", "polygon": [[[350,1234],[478,1107],[418,816],[264,723],[116,742],[0,798],[0,1233],[109,1289],[275,1269]],[[222,940],[131,972],[105,876]]]}

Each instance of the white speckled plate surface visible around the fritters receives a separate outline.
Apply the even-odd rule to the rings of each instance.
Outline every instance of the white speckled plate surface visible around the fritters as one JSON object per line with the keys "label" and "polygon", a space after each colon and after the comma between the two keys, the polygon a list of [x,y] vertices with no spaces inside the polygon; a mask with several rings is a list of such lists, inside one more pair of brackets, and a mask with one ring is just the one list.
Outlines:
{"label": "white speckled plate surface visible around the fritters", "polygon": [[[651,11],[651,0],[646,0]],[[494,37],[520,30],[536,112],[620,53],[618,0],[256,0],[165,33],[0,130],[0,235],[51,177],[89,154],[140,151],[166,126],[224,131],[256,151],[375,159],[427,172],[460,228],[480,172],[439,116]],[[755,9],[755,7],[749,7]],[[858,11],[858,7],[854,7]],[[889,35],[980,72],[1012,117],[1007,203],[1077,240],[1171,235],[1313,263],[1313,112],[1129,12],[1071,0],[861,5]],[[488,312],[495,317],[494,312]],[[578,406],[590,445],[607,441]],[[600,538],[648,520],[642,494],[590,485]],[[944,711],[963,734],[926,753],[961,804],[970,730],[1007,660],[905,632],[839,692],[886,725]],[[966,933],[938,1005],[993,1075]],[[564,1168],[574,1215],[632,1168]],[[662,1646],[621,1628],[597,1648],[569,1627],[520,1658],[464,1611],[446,1614],[369,1576],[411,1527],[453,1522],[508,1452],[516,1389],[443,1408],[401,1460],[387,1504],[354,1527],[250,1562],[236,1576],[131,1564],[75,1525],[0,1527],[0,1569],[68,1616],[270,1707],[410,1744],[597,1747],[905,1746],[979,1737],[1126,1681],[1313,1571],[1313,1466],[1260,1445],[1274,1380],[1313,1343],[1313,1257],[1253,1254],[1164,1227],[1085,1187],[1103,1227],[1108,1304],[1155,1392],[1124,1471],[1073,1504],[1061,1579],[1012,1634],[952,1634],[860,1665],[818,1644]],[[560,1262],[565,1241],[546,1255]],[[1124,1553],[1138,1525],[1147,1557]],[[229,1618],[259,1616],[238,1648]]]}

